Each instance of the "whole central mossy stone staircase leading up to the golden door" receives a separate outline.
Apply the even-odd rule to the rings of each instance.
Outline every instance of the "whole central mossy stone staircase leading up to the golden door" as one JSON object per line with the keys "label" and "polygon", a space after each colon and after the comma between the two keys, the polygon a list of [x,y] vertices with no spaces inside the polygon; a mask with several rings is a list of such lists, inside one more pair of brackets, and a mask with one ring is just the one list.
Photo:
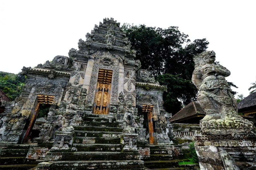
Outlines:
{"label": "whole central mossy stone staircase leading up to the golden door", "polygon": [[120,143],[122,123],[112,115],[86,114],[84,120],[75,122],[71,150],[51,150],[42,169],[144,169],[139,152],[123,152]]}

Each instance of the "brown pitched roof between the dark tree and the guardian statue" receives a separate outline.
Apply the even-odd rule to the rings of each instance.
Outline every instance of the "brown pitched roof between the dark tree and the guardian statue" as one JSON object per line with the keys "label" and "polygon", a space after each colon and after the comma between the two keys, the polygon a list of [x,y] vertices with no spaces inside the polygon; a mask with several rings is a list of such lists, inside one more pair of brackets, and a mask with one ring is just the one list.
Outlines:
{"label": "brown pitched roof between the dark tree and the guardian statue", "polygon": [[172,118],[170,118],[169,121],[172,123],[176,123],[199,116],[205,116],[205,111],[199,105],[199,103],[191,101],[191,103],[189,103],[179,112],[177,112],[174,116],[172,116]]}

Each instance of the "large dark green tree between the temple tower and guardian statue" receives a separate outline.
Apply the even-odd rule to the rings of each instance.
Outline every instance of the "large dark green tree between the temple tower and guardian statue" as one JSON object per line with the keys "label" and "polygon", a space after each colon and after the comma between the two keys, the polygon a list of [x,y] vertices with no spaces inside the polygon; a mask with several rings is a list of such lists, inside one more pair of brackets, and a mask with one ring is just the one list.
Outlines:
{"label": "large dark green tree between the temple tower and guardian statue", "polygon": [[206,39],[191,42],[178,27],[162,29],[124,24],[122,28],[131,41],[131,49],[136,50],[141,68],[150,71],[161,85],[167,85],[166,111],[175,114],[191,99],[196,99],[197,89],[191,82],[193,56],[207,49]]}

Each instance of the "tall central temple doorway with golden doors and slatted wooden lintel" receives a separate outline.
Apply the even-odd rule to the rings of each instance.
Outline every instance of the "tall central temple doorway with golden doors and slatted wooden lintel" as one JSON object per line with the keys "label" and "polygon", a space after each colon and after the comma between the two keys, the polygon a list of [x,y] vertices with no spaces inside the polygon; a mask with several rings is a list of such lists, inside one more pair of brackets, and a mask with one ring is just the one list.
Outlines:
{"label": "tall central temple doorway with golden doors and slatted wooden lintel", "polygon": [[92,113],[94,114],[109,113],[112,74],[112,70],[99,69],[92,110]]}

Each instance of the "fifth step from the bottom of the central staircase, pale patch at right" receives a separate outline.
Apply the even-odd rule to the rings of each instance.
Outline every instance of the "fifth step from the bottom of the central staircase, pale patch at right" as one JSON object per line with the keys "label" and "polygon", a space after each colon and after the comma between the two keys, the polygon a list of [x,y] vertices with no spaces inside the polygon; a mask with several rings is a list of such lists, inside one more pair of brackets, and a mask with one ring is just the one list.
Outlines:
{"label": "fifth step from the bottom of the central staircase, pale patch at right", "polygon": [[75,130],[75,136],[79,137],[119,137],[122,132],[102,132],[102,131],[79,131]]}

